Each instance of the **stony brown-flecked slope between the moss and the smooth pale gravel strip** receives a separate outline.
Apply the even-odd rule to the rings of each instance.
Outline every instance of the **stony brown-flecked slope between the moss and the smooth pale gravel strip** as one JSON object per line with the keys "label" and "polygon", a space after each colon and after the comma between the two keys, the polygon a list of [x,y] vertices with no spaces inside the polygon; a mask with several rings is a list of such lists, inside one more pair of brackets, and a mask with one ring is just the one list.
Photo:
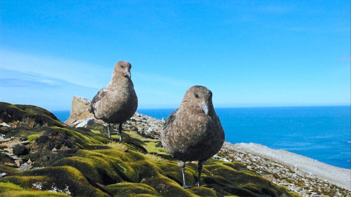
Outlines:
{"label": "stony brown-flecked slope between the moss and the smooth pale gravel strip", "polygon": [[225,142],[215,156],[216,159],[221,157],[232,161],[240,161],[248,169],[256,171],[272,183],[283,185],[290,191],[299,193],[304,197],[351,196],[350,190],[340,188],[327,180],[320,179],[311,173],[290,167],[274,159],[260,157],[243,149],[236,149],[231,143]]}

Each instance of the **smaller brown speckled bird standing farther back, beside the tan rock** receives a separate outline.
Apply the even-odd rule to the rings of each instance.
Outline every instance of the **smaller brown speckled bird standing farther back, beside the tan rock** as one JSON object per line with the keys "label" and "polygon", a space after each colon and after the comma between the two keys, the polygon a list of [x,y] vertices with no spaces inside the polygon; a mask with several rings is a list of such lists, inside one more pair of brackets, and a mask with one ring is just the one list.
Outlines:
{"label": "smaller brown speckled bird standing farther back, beside the tan rock", "polygon": [[120,134],[122,123],[131,118],[138,107],[138,97],[131,80],[131,67],[132,65],[127,61],[117,62],[114,65],[110,83],[94,96],[89,109],[95,118],[109,125],[119,123]]}

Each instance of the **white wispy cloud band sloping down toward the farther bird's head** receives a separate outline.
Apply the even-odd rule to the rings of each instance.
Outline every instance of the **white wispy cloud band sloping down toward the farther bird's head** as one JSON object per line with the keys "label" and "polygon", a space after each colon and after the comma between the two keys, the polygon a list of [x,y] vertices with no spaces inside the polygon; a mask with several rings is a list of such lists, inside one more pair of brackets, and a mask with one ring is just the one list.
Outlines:
{"label": "white wispy cloud band sloping down toward the farther bird's head", "polygon": [[[0,48],[0,68],[19,71],[41,77],[52,77],[80,86],[99,88],[105,85],[106,76],[111,75],[111,69],[98,65],[58,57],[38,56],[13,52]],[[105,80],[92,80],[105,79]],[[44,81],[50,83],[49,81]]]}

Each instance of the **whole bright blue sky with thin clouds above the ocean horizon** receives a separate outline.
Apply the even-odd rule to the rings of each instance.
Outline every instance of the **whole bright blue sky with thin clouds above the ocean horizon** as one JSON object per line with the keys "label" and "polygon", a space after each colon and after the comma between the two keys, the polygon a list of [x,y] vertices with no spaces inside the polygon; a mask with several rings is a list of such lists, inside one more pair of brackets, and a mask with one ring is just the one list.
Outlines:
{"label": "whole bright blue sky with thin clouds above the ocean horizon", "polygon": [[139,108],[350,105],[350,1],[1,1],[0,101],[68,110],[114,63]]}

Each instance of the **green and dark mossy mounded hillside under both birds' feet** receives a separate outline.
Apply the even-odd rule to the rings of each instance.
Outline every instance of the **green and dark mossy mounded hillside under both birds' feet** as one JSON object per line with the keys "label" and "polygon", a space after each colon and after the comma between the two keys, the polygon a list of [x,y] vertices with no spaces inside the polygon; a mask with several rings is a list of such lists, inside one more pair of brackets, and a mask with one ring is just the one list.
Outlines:
{"label": "green and dark mossy mounded hillside under both birds' feet", "polygon": [[[101,124],[72,128],[43,108],[0,102],[2,122],[11,126],[0,128],[4,138],[29,141],[29,154],[17,160],[34,169],[19,171],[5,154],[9,141],[0,142],[0,196],[298,196],[244,164],[216,159],[204,164],[203,186],[183,189],[177,161],[138,131],[126,131],[118,143]],[[185,171],[195,183],[196,164]]]}

